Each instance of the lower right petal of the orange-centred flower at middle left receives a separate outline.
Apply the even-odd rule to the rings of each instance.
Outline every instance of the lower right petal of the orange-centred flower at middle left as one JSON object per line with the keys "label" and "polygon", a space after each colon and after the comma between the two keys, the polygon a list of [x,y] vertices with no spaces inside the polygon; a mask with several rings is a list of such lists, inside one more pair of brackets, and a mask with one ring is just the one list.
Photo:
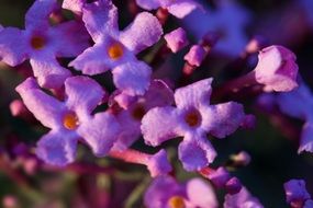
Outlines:
{"label": "lower right petal of the orange-centred flower at middle left", "polygon": [[114,116],[98,113],[90,120],[82,120],[77,132],[97,157],[105,155],[116,141],[121,127]]}

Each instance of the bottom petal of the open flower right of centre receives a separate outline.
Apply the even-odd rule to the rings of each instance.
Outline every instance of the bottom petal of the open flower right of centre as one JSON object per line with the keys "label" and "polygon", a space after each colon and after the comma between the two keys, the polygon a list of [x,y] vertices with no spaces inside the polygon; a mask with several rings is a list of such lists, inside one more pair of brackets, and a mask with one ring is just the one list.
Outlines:
{"label": "bottom petal of the open flower right of centre", "polygon": [[187,171],[200,171],[216,157],[214,148],[205,138],[187,135],[178,147],[178,157]]}

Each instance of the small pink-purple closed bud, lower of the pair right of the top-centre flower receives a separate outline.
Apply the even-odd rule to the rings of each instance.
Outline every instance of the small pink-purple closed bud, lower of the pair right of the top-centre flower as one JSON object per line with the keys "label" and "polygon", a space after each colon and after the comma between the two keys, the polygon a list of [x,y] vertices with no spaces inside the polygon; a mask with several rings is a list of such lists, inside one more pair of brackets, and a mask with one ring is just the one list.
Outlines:
{"label": "small pink-purple closed bud, lower of the pair right of the top-centre flower", "polygon": [[205,50],[200,45],[191,46],[189,53],[183,57],[186,61],[189,62],[191,66],[200,67],[201,62],[205,58]]}

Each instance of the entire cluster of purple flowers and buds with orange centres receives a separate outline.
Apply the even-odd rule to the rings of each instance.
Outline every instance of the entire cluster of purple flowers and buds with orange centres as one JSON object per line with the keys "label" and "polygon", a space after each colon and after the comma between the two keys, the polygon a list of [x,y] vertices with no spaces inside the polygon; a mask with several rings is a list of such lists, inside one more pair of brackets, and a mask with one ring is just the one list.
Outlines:
{"label": "entire cluster of purple flowers and buds with orange centres", "polygon": [[[243,151],[230,159],[231,165],[228,161],[213,169],[219,149],[209,138],[224,139],[239,128],[255,126],[255,116],[232,94],[247,89],[255,94],[275,91],[278,94],[271,94],[271,101],[283,113],[305,120],[299,151],[313,152],[313,100],[303,83],[298,88],[295,55],[279,45],[261,47],[258,38],[248,43],[242,27],[249,14],[239,12],[242,8],[231,1],[219,2],[212,14],[194,0],[132,3],[137,10],[125,24],[111,0],[35,0],[25,15],[24,30],[0,27],[0,60],[10,67],[29,60],[26,68],[33,71],[15,88],[22,102],[12,102],[11,113],[32,114],[49,129],[36,142],[35,155],[44,164],[66,167],[78,163],[78,147],[83,145],[97,158],[145,165],[154,177],[144,195],[144,204],[150,208],[215,208],[214,188],[226,190],[225,208],[261,208],[230,172],[247,165],[251,158]],[[63,10],[75,18],[54,20]],[[170,14],[178,20],[189,16],[182,21],[185,26],[169,32],[164,24]],[[205,25],[194,24],[198,15]],[[237,23],[228,21],[232,15]],[[188,37],[190,31],[197,43]],[[193,78],[215,44],[217,51],[231,57],[244,51],[243,59],[254,56],[257,61],[248,73],[237,71],[221,85],[212,78],[214,73]],[[167,72],[154,65],[166,55],[178,55],[185,62],[177,82],[159,76]],[[201,178],[180,183],[172,154],[183,171],[212,184]],[[303,186],[302,181],[284,185],[289,204],[312,206]]]}

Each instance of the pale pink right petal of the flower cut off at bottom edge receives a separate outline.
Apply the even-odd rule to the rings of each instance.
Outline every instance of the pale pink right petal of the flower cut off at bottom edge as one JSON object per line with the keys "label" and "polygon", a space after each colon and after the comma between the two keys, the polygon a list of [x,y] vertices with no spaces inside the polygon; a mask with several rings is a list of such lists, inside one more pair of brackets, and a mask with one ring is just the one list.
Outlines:
{"label": "pale pink right petal of the flower cut off at bottom edge", "polygon": [[194,207],[215,208],[219,203],[213,187],[200,178],[187,183],[187,196]]}

